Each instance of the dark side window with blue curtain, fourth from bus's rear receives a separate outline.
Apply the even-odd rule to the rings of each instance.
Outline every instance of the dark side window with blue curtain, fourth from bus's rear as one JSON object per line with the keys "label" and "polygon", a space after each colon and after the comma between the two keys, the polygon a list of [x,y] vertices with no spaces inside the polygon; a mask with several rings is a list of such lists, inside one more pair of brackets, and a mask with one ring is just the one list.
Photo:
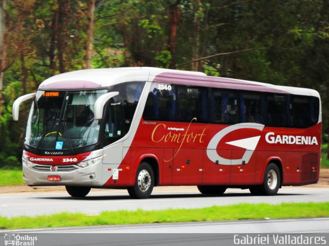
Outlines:
{"label": "dark side window with blue curtain, fourth from bus's rear", "polygon": [[239,121],[235,90],[211,89],[209,98],[211,123],[236,124]]}

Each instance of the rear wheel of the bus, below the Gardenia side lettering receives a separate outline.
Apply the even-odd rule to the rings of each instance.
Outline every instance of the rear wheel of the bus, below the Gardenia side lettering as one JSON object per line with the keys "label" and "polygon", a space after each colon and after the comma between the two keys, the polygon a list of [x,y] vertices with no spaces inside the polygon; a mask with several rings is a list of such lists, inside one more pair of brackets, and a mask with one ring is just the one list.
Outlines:
{"label": "rear wheel of the bus, below the Gardenia side lettering", "polygon": [[264,182],[261,185],[259,192],[263,196],[274,196],[277,195],[281,184],[281,176],[279,167],[270,162],[264,173]]}

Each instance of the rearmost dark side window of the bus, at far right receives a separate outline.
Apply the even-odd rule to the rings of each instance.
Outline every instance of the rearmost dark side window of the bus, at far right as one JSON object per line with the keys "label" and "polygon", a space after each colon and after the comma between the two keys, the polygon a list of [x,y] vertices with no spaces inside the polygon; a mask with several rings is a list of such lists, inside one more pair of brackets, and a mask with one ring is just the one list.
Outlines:
{"label": "rearmost dark side window of the bus, at far right", "polygon": [[306,128],[315,125],[319,120],[319,99],[315,97],[293,96],[293,127]]}

